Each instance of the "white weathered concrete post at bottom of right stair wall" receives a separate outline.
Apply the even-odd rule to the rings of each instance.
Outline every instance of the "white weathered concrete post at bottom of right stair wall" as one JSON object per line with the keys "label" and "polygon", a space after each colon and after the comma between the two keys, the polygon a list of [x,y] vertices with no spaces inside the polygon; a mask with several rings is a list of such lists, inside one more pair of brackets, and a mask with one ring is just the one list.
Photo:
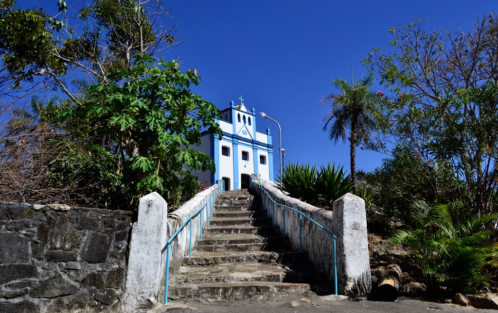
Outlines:
{"label": "white weathered concrete post at bottom of right stair wall", "polygon": [[337,276],[340,295],[370,292],[370,257],[365,201],[347,193],[332,205],[337,232]]}

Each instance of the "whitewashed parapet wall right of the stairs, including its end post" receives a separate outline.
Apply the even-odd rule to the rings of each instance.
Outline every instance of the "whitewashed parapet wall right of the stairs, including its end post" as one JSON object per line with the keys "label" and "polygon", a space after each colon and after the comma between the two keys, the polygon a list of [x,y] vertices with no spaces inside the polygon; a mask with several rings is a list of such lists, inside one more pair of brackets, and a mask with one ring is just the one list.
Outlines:
{"label": "whitewashed parapet wall right of the stairs, including its end post", "polygon": [[[253,192],[259,192],[270,217],[282,235],[287,236],[294,249],[299,250],[299,213],[283,210],[278,204],[296,209],[310,217],[326,230],[337,236],[338,293],[341,295],[367,294],[371,288],[370,258],[367,238],[365,201],[347,193],[333,203],[332,210],[314,207],[283,194],[272,184],[253,180]],[[263,190],[278,204],[272,203]],[[283,234],[285,214],[285,234]],[[313,222],[302,218],[302,250],[309,260],[334,281],[334,239]]]}

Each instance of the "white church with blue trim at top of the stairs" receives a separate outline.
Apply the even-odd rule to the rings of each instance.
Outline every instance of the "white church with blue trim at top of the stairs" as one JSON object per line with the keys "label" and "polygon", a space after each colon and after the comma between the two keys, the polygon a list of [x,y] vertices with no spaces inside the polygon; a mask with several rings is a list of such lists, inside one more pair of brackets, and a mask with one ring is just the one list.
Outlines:
{"label": "white church with blue trim at top of the stairs", "polygon": [[218,135],[208,131],[202,133],[201,145],[195,147],[211,156],[216,164],[216,172],[192,171],[201,182],[211,185],[223,179],[225,189],[233,190],[249,187],[252,173],[258,173],[262,179],[273,180],[273,145],[270,130],[265,133],[256,131],[256,113],[249,111],[242,96],[240,104],[221,111],[217,122],[223,131],[221,140]]}

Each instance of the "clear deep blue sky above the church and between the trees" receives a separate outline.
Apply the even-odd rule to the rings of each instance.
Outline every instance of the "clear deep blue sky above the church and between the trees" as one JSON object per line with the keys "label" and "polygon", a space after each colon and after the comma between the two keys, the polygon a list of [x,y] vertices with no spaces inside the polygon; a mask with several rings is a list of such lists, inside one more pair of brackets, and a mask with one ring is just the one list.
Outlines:
{"label": "clear deep blue sky above the church and between the trees", "polygon": [[[242,94],[246,106],[279,121],[285,163],[336,162],[349,169],[349,146],[334,145],[320,124],[319,104],[335,92],[333,78],[365,73],[361,59],[373,46],[388,48],[392,26],[427,17],[428,29],[468,30],[476,14],[495,1],[188,1],[167,2],[178,35],[187,40],[165,55],[195,67],[203,81],[193,91],[220,109]],[[378,89],[378,87],[375,87]],[[258,115],[257,129],[273,135],[278,168],[278,128]],[[357,169],[372,170],[385,157],[357,149]],[[278,173],[278,170],[275,171]]]}

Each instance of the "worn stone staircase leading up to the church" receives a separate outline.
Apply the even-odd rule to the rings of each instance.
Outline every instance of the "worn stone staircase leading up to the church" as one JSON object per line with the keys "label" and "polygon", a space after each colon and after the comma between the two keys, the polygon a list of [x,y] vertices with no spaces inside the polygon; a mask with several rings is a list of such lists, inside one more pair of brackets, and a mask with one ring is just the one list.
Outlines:
{"label": "worn stone staircase leading up to the church", "polygon": [[216,200],[209,231],[203,232],[192,257],[169,280],[169,300],[247,299],[265,292],[332,294],[333,286],[293,251],[272,227],[261,200],[247,189],[226,191]]}

